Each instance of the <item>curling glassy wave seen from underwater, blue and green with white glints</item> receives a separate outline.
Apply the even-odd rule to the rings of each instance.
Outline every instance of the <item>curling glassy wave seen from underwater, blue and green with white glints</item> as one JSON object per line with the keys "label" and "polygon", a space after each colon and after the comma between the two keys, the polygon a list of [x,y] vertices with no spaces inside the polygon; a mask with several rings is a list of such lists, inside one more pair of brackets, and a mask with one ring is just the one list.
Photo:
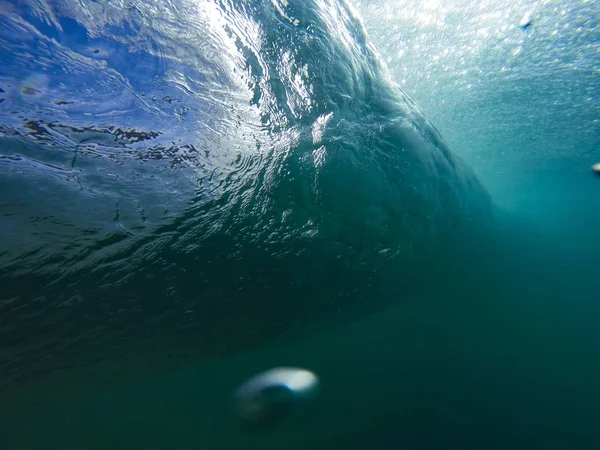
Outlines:
{"label": "curling glassy wave seen from underwater, blue and green with white glints", "polygon": [[344,2],[0,14],[5,379],[364,316],[492,214]]}

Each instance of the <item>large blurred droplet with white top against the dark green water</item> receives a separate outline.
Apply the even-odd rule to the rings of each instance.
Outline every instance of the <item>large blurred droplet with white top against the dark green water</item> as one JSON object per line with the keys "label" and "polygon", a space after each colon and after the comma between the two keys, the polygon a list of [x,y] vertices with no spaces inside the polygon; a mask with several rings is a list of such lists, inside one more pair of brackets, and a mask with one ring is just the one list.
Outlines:
{"label": "large blurred droplet with white top against the dark green water", "polygon": [[300,403],[313,399],[318,386],[319,379],[309,370],[293,367],[267,370],[237,389],[237,413],[249,423],[273,423]]}

